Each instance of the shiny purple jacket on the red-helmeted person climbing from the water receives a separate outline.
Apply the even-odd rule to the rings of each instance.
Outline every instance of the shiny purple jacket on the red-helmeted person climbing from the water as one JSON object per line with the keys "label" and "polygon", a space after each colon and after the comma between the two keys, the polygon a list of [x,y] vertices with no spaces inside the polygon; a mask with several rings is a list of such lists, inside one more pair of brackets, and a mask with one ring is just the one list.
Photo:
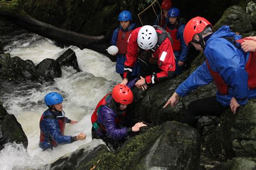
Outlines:
{"label": "shiny purple jacket on the red-helmeted person climbing from the water", "polygon": [[[127,83],[129,88],[133,88],[135,83],[139,79],[133,79]],[[114,140],[124,139],[128,136],[129,128],[123,127],[122,122],[119,124],[116,123],[117,113],[110,107],[107,107],[107,104],[111,105],[112,96],[107,98],[106,105],[100,107],[98,111],[98,123],[102,124],[106,130],[107,136]],[[96,131],[100,136],[103,136],[103,132]]]}

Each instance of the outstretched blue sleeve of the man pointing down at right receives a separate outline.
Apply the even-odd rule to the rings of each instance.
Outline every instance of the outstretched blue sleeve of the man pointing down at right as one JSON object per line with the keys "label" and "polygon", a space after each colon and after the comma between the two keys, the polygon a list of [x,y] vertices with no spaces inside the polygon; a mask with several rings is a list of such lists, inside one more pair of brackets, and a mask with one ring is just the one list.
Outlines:
{"label": "outstretched blue sleeve of the man pointing down at right", "polygon": [[194,72],[187,77],[187,79],[181,83],[175,91],[179,96],[184,97],[192,90],[199,86],[204,86],[212,81],[212,76],[208,70],[206,61],[204,61],[204,63],[194,70]]}

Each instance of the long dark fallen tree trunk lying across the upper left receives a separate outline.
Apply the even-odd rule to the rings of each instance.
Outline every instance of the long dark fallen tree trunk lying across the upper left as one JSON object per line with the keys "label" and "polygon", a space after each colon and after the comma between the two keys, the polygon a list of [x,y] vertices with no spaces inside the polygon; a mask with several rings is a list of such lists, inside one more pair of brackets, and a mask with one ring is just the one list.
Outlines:
{"label": "long dark fallen tree trunk lying across the upper left", "polygon": [[12,23],[40,36],[55,40],[65,45],[74,45],[80,49],[89,48],[111,57],[106,52],[110,45],[104,36],[87,36],[73,31],[43,23],[30,17],[22,8],[21,0],[0,0],[0,15],[8,18]]}

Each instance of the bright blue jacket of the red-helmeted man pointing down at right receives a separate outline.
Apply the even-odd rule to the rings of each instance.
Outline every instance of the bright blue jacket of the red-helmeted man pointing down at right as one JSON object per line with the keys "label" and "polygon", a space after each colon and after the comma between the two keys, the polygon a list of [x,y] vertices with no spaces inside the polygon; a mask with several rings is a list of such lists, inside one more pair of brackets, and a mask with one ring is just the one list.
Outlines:
{"label": "bright blue jacket of the red-helmeted man pointing down at right", "polygon": [[[228,85],[228,95],[220,95],[217,91],[217,101],[226,107],[230,105],[232,97],[235,97],[240,105],[244,105],[248,98],[256,98],[256,89],[250,90],[247,85],[248,74],[245,71],[245,64],[249,53],[245,53],[241,48],[235,47],[232,42],[221,37],[240,39],[240,36],[231,32],[229,26],[222,26],[206,41],[204,50],[206,59],[211,69],[218,72]],[[213,78],[207,63],[204,62],[180,84],[176,93],[186,96],[190,91],[211,81]]]}

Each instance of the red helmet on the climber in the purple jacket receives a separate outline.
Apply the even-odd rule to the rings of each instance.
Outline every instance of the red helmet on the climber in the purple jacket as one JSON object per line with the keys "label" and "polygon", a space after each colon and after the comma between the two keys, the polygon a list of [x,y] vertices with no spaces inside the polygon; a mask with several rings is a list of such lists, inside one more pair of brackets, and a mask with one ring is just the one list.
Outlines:
{"label": "red helmet on the climber in the purple jacket", "polygon": [[132,90],[124,84],[117,84],[112,91],[114,100],[121,104],[130,104],[133,101]]}

